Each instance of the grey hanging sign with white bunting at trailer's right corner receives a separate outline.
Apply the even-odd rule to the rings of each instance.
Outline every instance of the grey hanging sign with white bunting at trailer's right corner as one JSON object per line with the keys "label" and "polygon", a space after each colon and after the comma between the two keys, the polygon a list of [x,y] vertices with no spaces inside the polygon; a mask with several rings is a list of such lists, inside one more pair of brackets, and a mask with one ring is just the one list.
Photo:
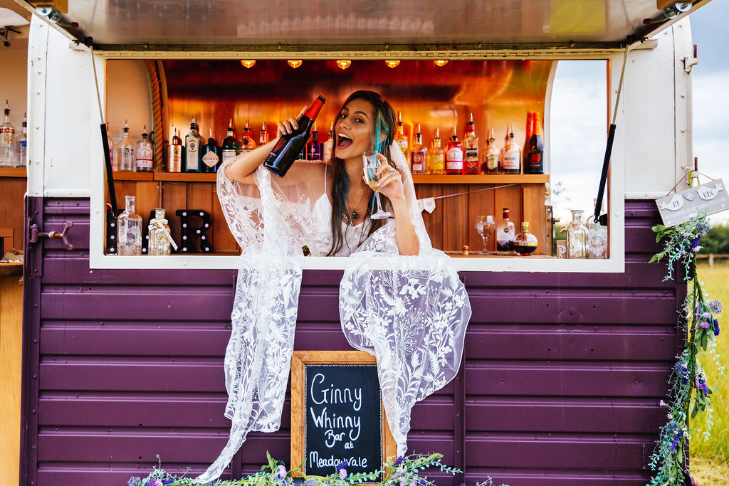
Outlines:
{"label": "grey hanging sign with white bunting at trailer's right corner", "polygon": [[676,226],[688,219],[729,209],[729,195],[722,179],[691,187],[655,200],[663,225]]}

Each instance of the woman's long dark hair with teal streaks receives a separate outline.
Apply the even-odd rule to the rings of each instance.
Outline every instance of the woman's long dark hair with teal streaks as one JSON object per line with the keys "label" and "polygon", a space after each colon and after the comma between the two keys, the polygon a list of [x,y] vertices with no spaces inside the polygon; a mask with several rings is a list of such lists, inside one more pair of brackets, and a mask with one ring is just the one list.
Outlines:
{"label": "woman's long dark hair with teal streaks", "polygon": [[[372,125],[372,141],[373,149],[383,154],[387,160],[390,160],[390,144],[392,143],[392,137],[395,133],[395,112],[390,106],[390,103],[385,101],[385,98],[380,93],[374,91],[359,90],[355,91],[344,101],[342,108],[338,111],[337,116],[342,112],[342,109],[348,105],[352,100],[364,100],[373,106],[373,125]],[[382,136],[385,136],[381,141]],[[336,137],[336,133],[335,133]],[[390,162],[392,165],[392,162]],[[343,235],[342,235],[342,221],[351,222],[351,216],[347,211],[346,197],[349,192],[349,180],[347,179],[347,172],[344,167],[344,160],[337,157],[337,143],[335,140],[334,146],[332,146],[332,247],[330,248],[327,256],[333,256],[342,249],[343,246]],[[374,208],[375,204],[375,193],[370,195],[370,202],[368,204],[370,211]],[[389,205],[389,201],[383,200],[383,205]],[[367,230],[367,236],[370,236],[385,224],[384,219],[377,219],[375,221],[370,219],[369,229]],[[364,222],[364,217],[363,217]]]}

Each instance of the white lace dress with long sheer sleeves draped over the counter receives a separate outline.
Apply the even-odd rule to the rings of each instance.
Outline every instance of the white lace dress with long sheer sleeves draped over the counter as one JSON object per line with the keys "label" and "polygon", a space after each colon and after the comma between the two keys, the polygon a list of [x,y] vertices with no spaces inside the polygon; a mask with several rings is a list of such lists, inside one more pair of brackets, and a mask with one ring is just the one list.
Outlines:
{"label": "white lace dress with long sheer sleeves draped over the counter", "polygon": [[[348,262],[340,318],[350,344],[377,358],[387,420],[403,455],[413,405],[458,372],[471,308],[451,259],[431,246],[402,151],[393,144],[391,153],[403,176],[420,252],[399,255],[394,219],[362,244],[362,224],[344,226],[340,255],[348,255]],[[249,431],[280,426],[305,258],[301,248],[324,256],[331,247],[326,184],[319,195],[312,195],[315,184],[280,187],[263,168],[254,180],[255,186],[246,186],[227,179],[224,168],[218,172],[218,197],[243,251],[225,353],[230,438],[200,482],[220,476]]]}

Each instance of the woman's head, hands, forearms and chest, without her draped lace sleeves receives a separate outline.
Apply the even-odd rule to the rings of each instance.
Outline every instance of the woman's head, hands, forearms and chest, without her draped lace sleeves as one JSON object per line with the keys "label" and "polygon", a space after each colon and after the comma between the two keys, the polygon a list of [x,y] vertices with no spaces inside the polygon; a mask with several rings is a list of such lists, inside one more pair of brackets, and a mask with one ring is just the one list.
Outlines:
{"label": "woman's head, hands, forearms and chest, without her draped lace sleeves", "polygon": [[[303,110],[300,114],[303,114]],[[278,124],[278,136],[292,133],[297,128],[297,120],[289,118]],[[280,181],[284,186],[303,183],[311,194],[326,193],[330,204],[324,209],[324,216],[328,216],[331,230],[327,256],[351,254],[384,224],[382,220],[369,217],[373,209],[374,192],[367,186],[362,172],[362,153],[367,150],[377,151],[382,163],[378,168],[381,176],[380,193],[387,197],[391,205],[399,254],[418,254],[418,239],[405,199],[402,175],[390,160],[390,146],[395,131],[392,107],[378,93],[356,91],[344,102],[334,128],[336,144],[332,147],[330,164],[294,164]],[[254,184],[254,171],[262,165],[277,138],[236,157],[225,167],[225,176],[233,182]],[[322,216],[321,212],[318,216]],[[323,250],[312,246],[309,249],[315,255]]]}

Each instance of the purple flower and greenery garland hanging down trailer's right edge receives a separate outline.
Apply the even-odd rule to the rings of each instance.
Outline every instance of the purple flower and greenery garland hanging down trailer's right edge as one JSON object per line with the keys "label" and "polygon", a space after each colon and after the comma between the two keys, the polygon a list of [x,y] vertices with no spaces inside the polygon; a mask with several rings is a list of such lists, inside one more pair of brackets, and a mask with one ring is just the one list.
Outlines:
{"label": "purple flower and greenery garland hanging down trailer's right edge", "polygon": [[[652,227],[657,233],[658,243],[666,238],[663,251],[655,254],[650,262],[660,262],[668,257],[668,274],[663,281],[674,278],[674,265],[682,264],[685,269],[684,281],[689,291],[679,313],[678,329],[684,336],[684,350],[677,356],[671,377],[668,379],[670,390],[668,402],[661,400],[660,406],[666,407],[668,422],[660,430],[655,451],[650,458],[650,467],[657,471],[650,486],[684,485],[689,468],[686,463],[685,448],[690,437],[689,415],[695,418],[699,412],[706,412],[707,428],[704,439],[709,437],[712,427],[712,391],[716,387],[706,384],[706,375],[698,361],[702,351],[708,351],[714,358],[717,369],[723,374],[723,367],[715,353],[716,337],[720,333],[718,316],[722,303],[709,301],[709,295],[702,289],[702,282],[696,278],[696,254],[701,249],[701,237],[709,231],[705,216],[691,218],[675,227],[662,224]],[[693,407],[692,407],[693,406]]]}

